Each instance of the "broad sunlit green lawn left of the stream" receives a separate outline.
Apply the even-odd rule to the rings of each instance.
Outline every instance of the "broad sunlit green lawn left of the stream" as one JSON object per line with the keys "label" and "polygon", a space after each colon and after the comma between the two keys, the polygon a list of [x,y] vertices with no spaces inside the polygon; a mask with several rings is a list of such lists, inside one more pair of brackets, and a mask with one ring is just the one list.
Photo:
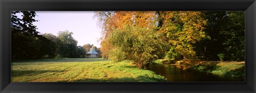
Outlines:
{"label": "broad sunlit green lawn left of the stream", "polygon": [[62,58],[12,61],[12,82],[159,82],[153,71],[128,61],[113,63],[102,58]]}

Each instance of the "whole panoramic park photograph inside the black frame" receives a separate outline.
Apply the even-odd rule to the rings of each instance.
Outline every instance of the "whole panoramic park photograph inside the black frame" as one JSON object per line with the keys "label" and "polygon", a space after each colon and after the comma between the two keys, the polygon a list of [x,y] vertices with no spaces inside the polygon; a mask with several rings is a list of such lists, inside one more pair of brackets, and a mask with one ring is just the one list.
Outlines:
{"label": "whole panoramic park photograph inside the black frame", "polygon": [[245,11],[12,11],[11,82],[245,82]]}

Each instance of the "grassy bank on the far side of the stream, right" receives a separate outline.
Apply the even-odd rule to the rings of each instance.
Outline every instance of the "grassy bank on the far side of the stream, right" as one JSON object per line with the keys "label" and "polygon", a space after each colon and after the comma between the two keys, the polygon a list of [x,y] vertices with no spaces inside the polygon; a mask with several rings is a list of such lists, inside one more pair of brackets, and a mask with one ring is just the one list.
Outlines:
{"label": "grassy bank on the far side of the stream, right", "polygon": [[225,77],[244,78],[245,62],[235,61],[174,61],[174,60],[157,60],[157,63],[177,65],[185,68],[191,68],[198,71],[210,72],[215,75]]}

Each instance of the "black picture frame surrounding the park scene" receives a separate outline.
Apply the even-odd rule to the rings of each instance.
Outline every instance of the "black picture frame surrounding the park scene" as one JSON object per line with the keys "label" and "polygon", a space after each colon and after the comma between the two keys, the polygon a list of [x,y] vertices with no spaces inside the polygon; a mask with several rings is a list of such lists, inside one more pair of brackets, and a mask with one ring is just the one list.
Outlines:
{"label": "black picture frame surrounding the park scene", "polygon": [[[255,92],[255,0],[1,0],[0,92]],[[11,82],[11,11],[246,11],[245,82]]]}

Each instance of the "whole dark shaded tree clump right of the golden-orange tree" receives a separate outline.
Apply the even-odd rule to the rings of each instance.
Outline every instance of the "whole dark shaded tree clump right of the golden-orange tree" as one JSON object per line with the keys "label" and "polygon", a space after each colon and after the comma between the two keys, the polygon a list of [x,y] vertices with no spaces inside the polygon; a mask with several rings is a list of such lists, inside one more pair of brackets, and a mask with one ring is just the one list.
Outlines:
{"label": "whole dark shaded tree clump right of the golden-orange tree", "polygon": [[211,39],[196,45],[198,54],[203,55],[205,60],[244,61],[245,13],[207,11],[203,14],[207,20],[204,31]]}

